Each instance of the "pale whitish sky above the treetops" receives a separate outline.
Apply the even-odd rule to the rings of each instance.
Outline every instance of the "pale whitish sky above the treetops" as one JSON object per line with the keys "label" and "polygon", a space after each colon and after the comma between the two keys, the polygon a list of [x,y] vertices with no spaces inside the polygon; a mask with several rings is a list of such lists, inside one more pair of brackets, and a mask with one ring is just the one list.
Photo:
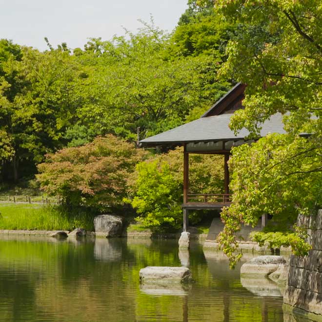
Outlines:
{"label": "pale whitish sky above the treetops", "polygon": [[109,40],[136,31],[138,19],[172,31],[187,8],[187,0],[0,0],[0,39],[47,49],[44,37],[56,47],[83,47],[87,38]]}

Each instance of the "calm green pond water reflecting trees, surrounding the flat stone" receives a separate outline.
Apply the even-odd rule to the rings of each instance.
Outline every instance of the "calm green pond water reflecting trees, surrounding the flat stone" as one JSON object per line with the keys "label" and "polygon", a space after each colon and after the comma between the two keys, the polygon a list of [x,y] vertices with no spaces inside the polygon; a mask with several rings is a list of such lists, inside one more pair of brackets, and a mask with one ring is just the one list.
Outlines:
{"label": "calm green pond water reflecting trees, surrounding the flat stone", "polygon": [[[177,241],[0,239],[0,321],[283,321],[275,284],[241,281],[221,253]],[[142,267],[189,264],[187,286],[140,285]]]}

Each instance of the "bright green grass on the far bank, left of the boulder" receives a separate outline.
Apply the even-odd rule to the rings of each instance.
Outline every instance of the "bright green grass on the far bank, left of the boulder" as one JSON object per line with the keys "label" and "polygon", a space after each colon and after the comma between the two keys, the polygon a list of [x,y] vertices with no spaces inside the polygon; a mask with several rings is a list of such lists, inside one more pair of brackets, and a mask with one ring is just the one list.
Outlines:
{"label": "bright green grass on the far bank, left of the boulder", "polygon": [[0,203],[0,229],[73,230],[76,227],[93,231],[93,216],[81,209],[68,212],[61,206]]}

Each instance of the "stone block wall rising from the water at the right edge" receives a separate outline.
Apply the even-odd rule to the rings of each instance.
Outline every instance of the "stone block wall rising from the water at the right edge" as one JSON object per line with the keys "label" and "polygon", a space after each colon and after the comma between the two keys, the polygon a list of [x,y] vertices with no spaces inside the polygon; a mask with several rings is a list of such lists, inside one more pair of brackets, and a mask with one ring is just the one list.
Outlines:
{"label": "stone block wall rising from the water at the right edge", "polygon": [[298,225],[307,229],[312,250],[308,256],[291,256],[284,294],[285,310],[322,321],[322,209],[317,215],[299,216]]}

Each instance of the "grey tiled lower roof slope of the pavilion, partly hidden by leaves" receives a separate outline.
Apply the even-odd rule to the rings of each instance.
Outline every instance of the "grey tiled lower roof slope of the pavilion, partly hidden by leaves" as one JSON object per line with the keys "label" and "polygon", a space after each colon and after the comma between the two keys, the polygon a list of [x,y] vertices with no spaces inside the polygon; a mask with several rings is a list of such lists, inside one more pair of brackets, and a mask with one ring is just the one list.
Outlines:
{"label": "grey tiled lower roof slope of the pavilion, partly hidden by leaves", "polygon": [[[230,141],[244,139],[249,132],[242,129],[237,136],[230,130],[228,124],[233,114],[209,116],[192,121],[172,130],[157,134],[140,141],[143,146],[181,144],[188,142]],[[282,114],[277,113],[262,124],[261,137],[268,133],[286,133],[282,122]]]}

